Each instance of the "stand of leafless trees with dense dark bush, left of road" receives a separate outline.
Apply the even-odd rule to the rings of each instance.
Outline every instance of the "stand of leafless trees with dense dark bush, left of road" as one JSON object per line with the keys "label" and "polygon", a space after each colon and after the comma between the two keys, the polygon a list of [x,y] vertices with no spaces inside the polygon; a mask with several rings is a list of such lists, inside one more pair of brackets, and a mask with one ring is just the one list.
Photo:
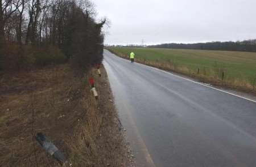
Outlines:
{"label": "stand of leafless trees with dense dark bush, left of road", "polygon": [[[31,44],[34,49],[31,55],[40,52],[38,57],[46,59],[42,58],[43,52],[54,47],[71,58],[71,62],[80,70],[101,61],[104,39],[102,26],[106,20],[95,22],[96,10],[89,0],[0,1],[3,1],[0,8],[0,55],[6,52],[3,45],[8,41],[8,46],[16,47],[19,44],[17,55],[8,55],[17,61],[26,62],[24,46]],[[45,55],[51,59],[49,54]],[[3,58],[0,57],[1,62]]]}

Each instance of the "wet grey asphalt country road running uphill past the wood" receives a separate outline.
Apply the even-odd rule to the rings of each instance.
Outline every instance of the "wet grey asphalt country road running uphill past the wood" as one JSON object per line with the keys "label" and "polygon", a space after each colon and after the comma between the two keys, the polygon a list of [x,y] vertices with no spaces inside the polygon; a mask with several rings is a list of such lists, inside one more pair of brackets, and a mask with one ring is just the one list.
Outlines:
{"label": "wet grey asphalt country road running uphill past the wood", "polygon": [[256,166],[256,102],[104,50],[137,166]]}

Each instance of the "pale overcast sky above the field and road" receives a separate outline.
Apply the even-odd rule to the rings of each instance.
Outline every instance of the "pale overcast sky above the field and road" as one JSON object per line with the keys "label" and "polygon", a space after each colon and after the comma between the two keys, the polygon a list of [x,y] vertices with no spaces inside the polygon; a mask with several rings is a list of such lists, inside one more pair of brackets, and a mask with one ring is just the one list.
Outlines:
{"label": "pale overcast sky above the field and road", "polygon": [[94,0],[111,27],[105,44],[256,38],[256,0]]}

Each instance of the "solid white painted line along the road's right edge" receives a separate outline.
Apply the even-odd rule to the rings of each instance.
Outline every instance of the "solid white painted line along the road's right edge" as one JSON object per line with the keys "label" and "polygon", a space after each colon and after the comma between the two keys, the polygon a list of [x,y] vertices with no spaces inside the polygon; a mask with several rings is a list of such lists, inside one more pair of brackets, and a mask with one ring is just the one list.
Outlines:
{"label": "solid white painted line along the road's right edge", "polygon": [[[141,63],[138,63],[138,64],[141,64]],[[143,65],[143,64],[141,64],[141,65]],[[144,66],[147,66],[147,65],[144,65]],[[246,98],[246,97],[239,96],[239,95],[236,95],[236,94],[234,94],[234,93],[226,92],[226,91],[223,91],[223,90],[221,90],[221,89],[214,88],[214,87],[205,85],[205,84],[200,83],[200,82],[196,82],[195,80],[191,80],[191,79],[188,79],[188,78],[184,78],[184,77],[182,77],[182,76],[179,76],[179,75],[172,74],[171,72],[167,72],[167,71],[164,71],[164,70],[160,70],[160,69],[158,69],[158,68],[151,67],[151,66],[147,66],[147,67],[150,67],[150,68],[152,68],[152,69],[154,69],[154,70],[156,70],[156,71],[165,72],[165,73],[167,73],[167,74],[169,74],[169,75],[173,75],[173,76],[176,76],[176,77],[178,77],[178,78],[182,78],[182,79],[188,80],[188,81],[190,81],[190,82],[193,82],[193,83],[196,83],[196,84],[199,84],[199,85],[203,85],[203,86],[208,87],[208,88],[215,89],[215,90],[217,90],[217,91],[221,91],[221,92],[224,92],[224,93],[228,93],[229,95],[233,95],[233,96],[236,96],[236,97],[240,97],[240,98],[242,98],[242,99],[249,100],[249,101],[251,101],[251,102],[256,102],[255,100],[248,99],[248,98]]]}

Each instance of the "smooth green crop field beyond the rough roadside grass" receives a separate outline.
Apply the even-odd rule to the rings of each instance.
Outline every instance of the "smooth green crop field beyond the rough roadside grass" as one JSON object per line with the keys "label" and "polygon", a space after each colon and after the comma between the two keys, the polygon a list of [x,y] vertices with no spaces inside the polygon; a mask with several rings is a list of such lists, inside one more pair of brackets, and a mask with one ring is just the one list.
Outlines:
{"label": "smooth green crop field beyond the rough roadside grass", "polygon": [[[256,80],[256,53],[250,52],[229,52],[212,50],[188,50],[188,49],[153,49],[153,48],[110,48],[119,55],[126,55],[133,51],[135,59],[139,62],[158,62],[166,65],[170,63],[177,69],[186,68],[191,74],[200,74],[204,71],[205,76],[225,73],[225,79],[229,82],[247,82],[255,85]],[[181,68],[182,67],[182,68]],[[174,68],[175,69],[175,68]],[[175,71],[175,70],[174,70]],[[179,71],[179,70],[176,70]]]}

